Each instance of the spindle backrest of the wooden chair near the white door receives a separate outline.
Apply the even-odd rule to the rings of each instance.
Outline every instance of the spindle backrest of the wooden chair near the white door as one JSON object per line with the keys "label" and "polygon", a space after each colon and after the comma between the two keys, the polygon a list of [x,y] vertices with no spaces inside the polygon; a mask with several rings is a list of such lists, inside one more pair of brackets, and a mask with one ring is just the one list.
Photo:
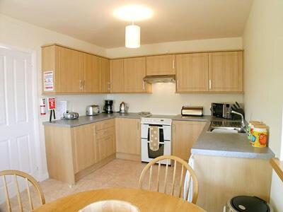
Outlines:
{"label": "spindle backrest of the wooden chair near the white door", "polygon": [[25,172],[21,172],[21,171],[18,171],[18,170],[4,170],[4,171],[0,172],[0,177],[2,176],[2,179],[3,179],[3,187],[4,187],[4,192],[6,194],[6,206],[7,206],[8,211],[11,211],[11,204],[10,204],[10,197],[8,195],[6,175],[13,175],[13,181],[14,181],[14,184],[15,184],[15,189],[16,189],[17,197],[18,197],[19,211],[23,211],[23,204],[22,204],[22,201],[21,201],[20,189],[18,188],[17,177],[23,177],[25,179],[25,185],[27,187],[27,192],[28,192],[28,201],[29,201],[29,205],[30,205],[30,211],[33,211],[33,201],[32,201],[31,195],[30,195],[30,186],[29,186],[28,182],[33,184],[33,186],[35,187],[35,190],[40,197],[41,204],[42,205],[45,204],[45,197],[43,195],[42,189],[40,188],[40,185],[37,183],[35,178],[33,178],[32,176],[28,175]]}

